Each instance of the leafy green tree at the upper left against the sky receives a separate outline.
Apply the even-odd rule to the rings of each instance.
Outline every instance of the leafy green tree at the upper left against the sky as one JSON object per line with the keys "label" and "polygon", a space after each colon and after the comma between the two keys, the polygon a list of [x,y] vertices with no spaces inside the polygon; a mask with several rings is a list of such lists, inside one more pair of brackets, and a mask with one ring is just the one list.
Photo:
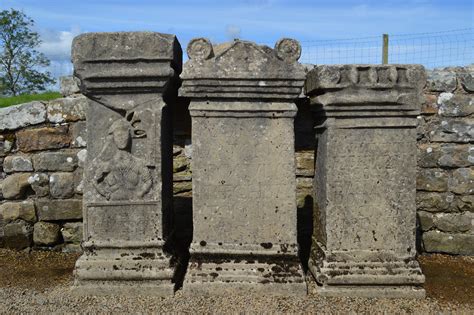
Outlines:
{"label": "leafy green tree at the upper left against the sky", "polygon": [[41,40],[33,26],[34,21],[21,11],[0,12],[0,82],[6,94],[43,91],[55,82],[49,72],[40,71],[50,61],[36,50]]}

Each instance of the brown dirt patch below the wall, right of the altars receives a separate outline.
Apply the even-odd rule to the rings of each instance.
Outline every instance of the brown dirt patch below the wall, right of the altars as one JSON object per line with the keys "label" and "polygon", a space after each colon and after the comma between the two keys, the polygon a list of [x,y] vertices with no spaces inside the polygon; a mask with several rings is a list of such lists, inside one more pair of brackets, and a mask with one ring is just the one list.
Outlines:
{"label": "brown dirt patch below the wall, right of the altars", "polygon": [[474,304],[474,257],[433,254],[420,256],[418,261],[426,277],[428,297]]}

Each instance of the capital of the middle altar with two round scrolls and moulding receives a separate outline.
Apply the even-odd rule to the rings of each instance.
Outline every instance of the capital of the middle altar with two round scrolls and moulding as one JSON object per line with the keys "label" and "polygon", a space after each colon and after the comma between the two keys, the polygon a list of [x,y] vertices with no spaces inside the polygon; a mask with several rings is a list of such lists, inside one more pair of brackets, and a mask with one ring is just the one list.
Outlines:
{"label": "capital of the middle altar with two round scrolls and moulding", "polygon": [[279,40],[274,49],[242,40],[213,45],[195,38],[187,52],[182,96],[294,100],[306,76],[297,62],[301,46],[289,38]]}

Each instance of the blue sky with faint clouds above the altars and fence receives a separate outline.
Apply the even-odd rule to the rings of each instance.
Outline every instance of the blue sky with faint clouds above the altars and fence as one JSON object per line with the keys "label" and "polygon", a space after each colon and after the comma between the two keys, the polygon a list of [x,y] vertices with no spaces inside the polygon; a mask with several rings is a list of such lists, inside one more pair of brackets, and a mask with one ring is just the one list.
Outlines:
{"label": "blue sky with faint clouds above the altars and fence", "polygon": [[273,45],[281,37],[318,41],[474,27],[472,0],[0,0],[0,9],[9,8],[35,20],[41,50],[66,68],[71,40],[83,32],[172,33],[185,50],[194,37]]}

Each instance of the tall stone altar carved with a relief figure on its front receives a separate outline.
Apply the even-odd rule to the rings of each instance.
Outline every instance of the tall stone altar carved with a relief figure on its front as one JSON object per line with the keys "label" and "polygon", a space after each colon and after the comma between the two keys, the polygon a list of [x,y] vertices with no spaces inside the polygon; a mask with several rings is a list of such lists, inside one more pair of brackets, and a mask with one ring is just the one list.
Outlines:
{"label": "tall stone altar carved with a relief figure on its front", "polygon": [[74,73],[89,99],[84,294],[172,295],[163,253],[172,220],[172,129],[182,51],[174,35],[88,33],[74,39]]}

